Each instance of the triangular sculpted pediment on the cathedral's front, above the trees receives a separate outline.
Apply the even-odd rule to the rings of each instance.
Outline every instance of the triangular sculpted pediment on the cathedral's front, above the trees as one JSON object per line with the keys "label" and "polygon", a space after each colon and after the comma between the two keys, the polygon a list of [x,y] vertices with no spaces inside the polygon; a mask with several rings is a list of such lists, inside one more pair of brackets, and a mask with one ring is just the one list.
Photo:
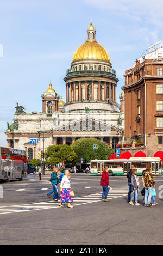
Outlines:
{"label": "triangular sculpted pediment on the cathedral's front, above the trees", "polygon": [[123,128],[111,124],[109,121],[92,118],[89,115],[75,119],[70,122],[65,122],[52,129],[53,131],[117,131],[122,132]]}

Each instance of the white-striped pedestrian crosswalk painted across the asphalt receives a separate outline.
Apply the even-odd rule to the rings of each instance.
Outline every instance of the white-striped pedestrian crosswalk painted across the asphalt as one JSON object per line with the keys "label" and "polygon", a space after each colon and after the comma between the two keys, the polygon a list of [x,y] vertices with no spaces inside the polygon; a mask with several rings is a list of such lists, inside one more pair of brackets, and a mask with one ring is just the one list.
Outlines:
{"label": "white-striped pedestrian crosswalk painted across the asphalt", "polygon": [[[46,188],[43,188],[42,190],[46,190]],[[108,199],[111,200],[115,198],[124,197],[127,194],[128,194],[128,186],[123,186],[123,187],[112,186],[112,187],[109,187]],[[102,200],[102,192],[87,194],[85,196],[80,196],[80,197],[73,197],[72,199],[73,199],[73,202],[71,203],[71,205],[73,206],[100,202]],[[43,202],[36,202],[31,204],[0,206],[0,215],[59,208],[58,204],[59,204],[59,201],[55,202],[53,200],[48,200],[48,201],[46,200]],[[67,204],[63,204],[63,205],[66,206]]]}

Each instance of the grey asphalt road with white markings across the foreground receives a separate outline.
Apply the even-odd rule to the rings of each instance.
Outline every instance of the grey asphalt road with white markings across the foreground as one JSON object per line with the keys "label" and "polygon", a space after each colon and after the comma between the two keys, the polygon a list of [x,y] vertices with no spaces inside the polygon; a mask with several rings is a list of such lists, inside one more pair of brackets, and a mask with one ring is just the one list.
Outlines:
{"label": "grey asphalt road with white markings across the foreground", "polygon": [[[60,208],[47,197],[49,176],[39,181],[28,175],[23,181],[1,182],[0,245],[162,245],[163,202],[145,208],[127,203],[124,176],[109,177],[110,202],[102,202],[101,177],[72,174],[73,209]],[[156,192],[163,177],[154,177]],[[163,196],[163,192],[162,192]],[[66,206],[66,205],[65,205]]]}

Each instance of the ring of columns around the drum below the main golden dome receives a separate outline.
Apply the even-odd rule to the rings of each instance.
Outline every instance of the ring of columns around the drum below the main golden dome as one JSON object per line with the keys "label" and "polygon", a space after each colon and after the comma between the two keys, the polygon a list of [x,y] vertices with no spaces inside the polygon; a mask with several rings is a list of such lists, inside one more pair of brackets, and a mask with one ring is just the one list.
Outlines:
{"label": "ring of columns around the drum below the main golden dome", "polygon": [[66,83],[66,103],[83,100],[116,101],[116,83],[96,80]]}

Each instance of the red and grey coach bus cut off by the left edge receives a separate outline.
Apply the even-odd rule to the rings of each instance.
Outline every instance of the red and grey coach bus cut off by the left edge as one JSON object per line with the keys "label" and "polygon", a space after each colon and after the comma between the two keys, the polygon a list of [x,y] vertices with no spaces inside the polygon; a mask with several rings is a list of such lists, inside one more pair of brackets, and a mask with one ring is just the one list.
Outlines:
{"label": "red and grey coach bus cut off by the left edge", "polygon": [[27,176],[26,151],[0,146],[0,180],[22,180]]}

